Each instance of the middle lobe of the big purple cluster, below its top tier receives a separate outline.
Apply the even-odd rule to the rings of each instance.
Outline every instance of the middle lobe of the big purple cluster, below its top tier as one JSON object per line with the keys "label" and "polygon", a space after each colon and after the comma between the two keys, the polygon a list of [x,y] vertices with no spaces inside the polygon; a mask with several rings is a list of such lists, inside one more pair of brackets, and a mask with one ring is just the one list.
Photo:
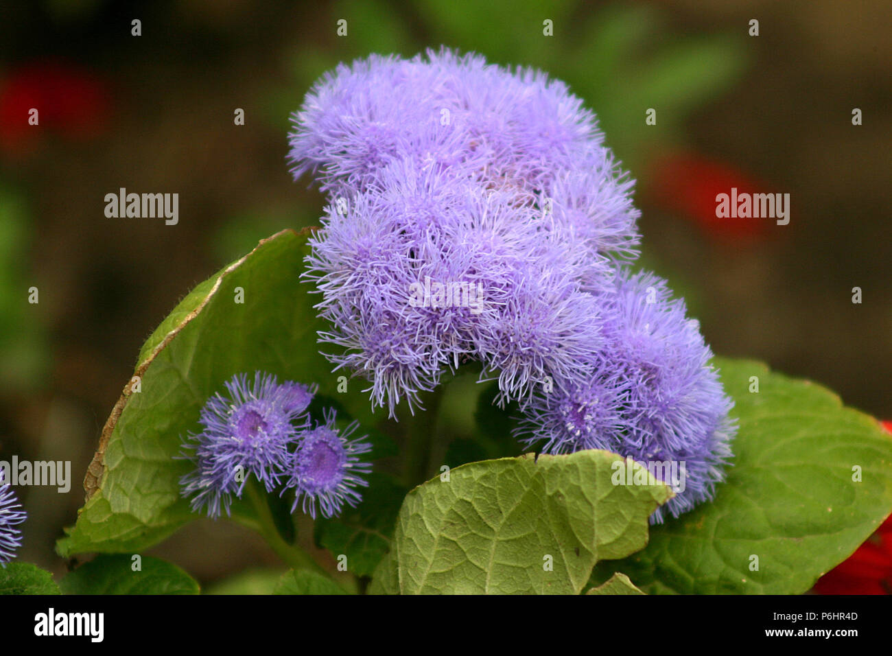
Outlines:
{"label": "middle lobe of the big purple cluster, below its top tier", "polygon": [[306,276],[331,326],[320,337],[343,347],[329,359],[367,375],[391,413],[470,358],[491,357],[507,395],[571,367],[597,326],[576,280],[582,253],[566,252],[553,218],[532,197],[518,206],[514,192],[403,162],[391,172],[390,187],[330,205],[310,240]]}

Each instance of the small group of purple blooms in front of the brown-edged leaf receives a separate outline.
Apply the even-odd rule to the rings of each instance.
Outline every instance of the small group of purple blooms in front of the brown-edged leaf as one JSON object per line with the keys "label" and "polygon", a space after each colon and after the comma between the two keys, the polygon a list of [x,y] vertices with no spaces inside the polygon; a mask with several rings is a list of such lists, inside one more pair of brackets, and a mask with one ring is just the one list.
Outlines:
{"label": "small group of purple blooms in front of the brown-edged leaf", "polygon": [[[340,513],[343,503],[361,499],[356,486],[366,483],[357,476],[371,468],[359,462],[371,446],[364,438],[350,441],[351,424],[335,428],[335,411],[326,411],[322,424],[313,424],[307,412],[316,392],[275,376],[238,374],[225,384],[227,394],[214,394],[204,404],[199,422],[202,431],[186,438],[184,458],[194,469],[180,479],[182,494],[191,497],[193,511],[219,517],[230,512],[233,495],[241,497],[253,476],[268,492],[283,486],[303,498],[305,511],[315,518],[315,503],[322,514]],[[323,439],[324,436],[324,439]],[[324,445],[323,445],[324,443]]]}

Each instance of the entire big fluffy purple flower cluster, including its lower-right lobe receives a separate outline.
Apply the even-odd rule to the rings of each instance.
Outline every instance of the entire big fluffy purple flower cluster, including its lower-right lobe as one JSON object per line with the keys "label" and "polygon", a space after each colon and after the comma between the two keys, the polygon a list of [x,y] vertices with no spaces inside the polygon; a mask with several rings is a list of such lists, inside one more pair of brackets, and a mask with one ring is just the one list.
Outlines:
{"label": "entire big fluffy purple flower cluster, including its lower-right lobe", "polygon": [[628,272],[633,182],[563,83],[446,49],[373,55],[319,80],[293,120],[293,173],[328,197],[305,275],[335,370],[393,415],[482,362],[522,440],[687,459],[665,510],[712,497],[731,403],[683,303]]}

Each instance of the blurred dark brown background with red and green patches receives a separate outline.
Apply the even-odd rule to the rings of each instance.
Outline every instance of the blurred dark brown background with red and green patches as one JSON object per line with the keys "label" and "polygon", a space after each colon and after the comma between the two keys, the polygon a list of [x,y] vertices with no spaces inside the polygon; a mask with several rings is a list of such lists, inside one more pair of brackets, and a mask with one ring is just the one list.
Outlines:
{"label": "blurred dark brown background with red and green patches", "polygon": [[[0,460],[71,461],[74,479],[69,494],[18,490],[21,559],[65,568],[54,540],[100,429],[178,299],[261,237],[317,221],[321,195],[285,163],[288,117],[321,73],[371,52],[454,46],[566,80],[638,180],[643,262],[714,351],[892,419],[890,18],[887,0],[4,0]],[[178,225],[107,219],[119,187],[178,193]],[[730,187],[789,193],[789,225],[715,219]],[[153,553],[211,588],[276,562],[208,520]]]}

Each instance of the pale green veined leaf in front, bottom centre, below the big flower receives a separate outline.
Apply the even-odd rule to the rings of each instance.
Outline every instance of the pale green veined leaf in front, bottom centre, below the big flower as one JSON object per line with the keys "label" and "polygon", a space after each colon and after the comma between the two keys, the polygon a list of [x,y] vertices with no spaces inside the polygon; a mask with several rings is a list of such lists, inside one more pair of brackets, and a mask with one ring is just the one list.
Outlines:
{"label": "pale green veined leaf in front, bottom centre, below the big flower", "polygon": [[[612,483],[614,453],[474,462],[412,490],[371,594],[579,594],[592,566],[648,542],[672,492]],[[618,555],[621,554],[621,555]]]}

